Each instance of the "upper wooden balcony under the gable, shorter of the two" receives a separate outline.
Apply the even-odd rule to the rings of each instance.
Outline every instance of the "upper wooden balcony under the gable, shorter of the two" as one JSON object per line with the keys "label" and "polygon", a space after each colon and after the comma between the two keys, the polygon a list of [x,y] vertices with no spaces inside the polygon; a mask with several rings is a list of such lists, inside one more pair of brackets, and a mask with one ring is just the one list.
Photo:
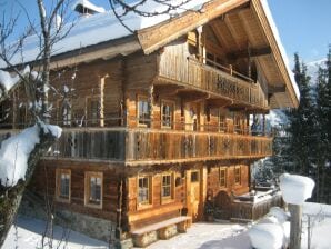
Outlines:
{"label": "upper wooden balcony under the gable, shorter of the two", "polygon": [[200,89],[211,94],[209,98],[229,100],[233,107],[269,109],[268,98],[260,84],[221,64],[208,66],[192,58],[162,54],[159,81]]}

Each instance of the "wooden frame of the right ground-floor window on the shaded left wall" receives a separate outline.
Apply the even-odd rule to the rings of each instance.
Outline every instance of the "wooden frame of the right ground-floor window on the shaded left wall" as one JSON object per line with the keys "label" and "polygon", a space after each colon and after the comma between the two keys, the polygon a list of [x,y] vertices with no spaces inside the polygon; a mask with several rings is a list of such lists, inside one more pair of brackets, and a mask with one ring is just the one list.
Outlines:
{"label": "wooden frame of the right ground-floor window on the shaded left wall", "polygon": [[[91,178],[100,178],[100,201],[91,201]],[[84,173],[84,206],[102,209],[103,202],[103,172],[86,171]]]}

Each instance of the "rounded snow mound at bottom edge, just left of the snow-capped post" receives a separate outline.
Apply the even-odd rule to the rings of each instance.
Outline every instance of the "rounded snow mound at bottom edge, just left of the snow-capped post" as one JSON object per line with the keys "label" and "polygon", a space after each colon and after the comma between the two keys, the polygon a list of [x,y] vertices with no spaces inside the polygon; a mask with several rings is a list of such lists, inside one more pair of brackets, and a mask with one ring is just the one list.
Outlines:
{"label": "rounded snow mound at bottom edge, just left of the snow-capped post", "polygon": [[283,245],[283,229],[278,223],[257,223],[248,233],[257,249],[280,249]]}

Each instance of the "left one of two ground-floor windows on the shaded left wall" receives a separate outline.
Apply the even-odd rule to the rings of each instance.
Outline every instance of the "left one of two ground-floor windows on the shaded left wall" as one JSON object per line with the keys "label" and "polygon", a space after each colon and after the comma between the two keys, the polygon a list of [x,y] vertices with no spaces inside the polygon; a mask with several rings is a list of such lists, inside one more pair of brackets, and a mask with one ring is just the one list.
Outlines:
{"label": "left one of two ground-floor windows on the shaded left wall", "polygon": [[60,201],[70,201],[70,180],[71,171],[69,169],[57,169],[57,199]]}

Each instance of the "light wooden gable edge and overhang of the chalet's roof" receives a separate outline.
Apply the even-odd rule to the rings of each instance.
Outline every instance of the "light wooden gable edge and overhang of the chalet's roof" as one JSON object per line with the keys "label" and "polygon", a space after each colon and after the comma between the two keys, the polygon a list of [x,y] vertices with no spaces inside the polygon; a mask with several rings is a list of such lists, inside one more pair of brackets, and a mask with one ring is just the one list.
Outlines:
{"label": "light wooden gable edge and overhang of the chalet's roof", "polygon": [[[245,32],[255,26],[254,31],[263,42],[257,47],[260,57],[257,59],[261,69],[267,74],[270,84],[270,106],[271,108],[297,108],[299,106],[300,93],[294,81],[291,70],[288,66],[288,58],[280,42],[277,28],[267,2],[263,0],[214,0],[204,3],[199,11],[187,11],[181,16],[163,21],[159,24],[137,31],[139,42],[146,54],[149,54],[169,42],[187,34],[189,31],[200,26],[207,24],[219,17],[233,13],[235,10],[249,11],[249,18],[245,20],[244,14],[239,14]],[[245,8],[242,8],[245,7]],[[249,8],[248,8],[249,7]],[[250,21],[250,22],[249,22]],[[247,40],[254,43],[254,33],[247,34]],[[259,42],[257,42],[259,43]],[[252,50],[253,51],[253,50]],[[234,56],[238,56],[237,51]],[[278,91],[275,92],[274,89]],[[282,90],[282,91],[281,91]]]}

